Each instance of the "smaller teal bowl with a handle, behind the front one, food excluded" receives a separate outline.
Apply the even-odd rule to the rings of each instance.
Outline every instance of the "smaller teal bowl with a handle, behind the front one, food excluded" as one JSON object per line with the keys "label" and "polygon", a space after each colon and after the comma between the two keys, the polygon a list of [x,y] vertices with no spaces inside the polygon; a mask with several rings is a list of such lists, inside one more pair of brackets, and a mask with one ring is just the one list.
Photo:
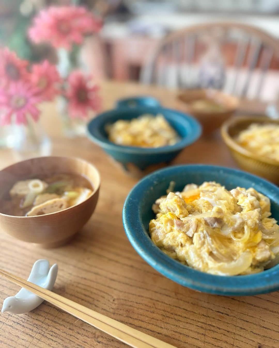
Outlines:
{"label": "smaller teal bowl with a handle, behind the front one, food excluded", "polygon": [[[119,119],[130,120],[142,114],[163,114],[169,124],[178,132],[181,140],[169,146],[160,148],[140,148],[117,145],[108,140],[105,126]],[[125,170],[136,167],[144,171],[148,167],[169,163],[186,146],[195,142],[201,135],[201,126],[189,115],[166,109],[160,106],[157,99],[152,97],[134,97],[119,100],[116,108],[99,114],[88,124],[89,138],[100,145],[108,155],[122,164]]]}

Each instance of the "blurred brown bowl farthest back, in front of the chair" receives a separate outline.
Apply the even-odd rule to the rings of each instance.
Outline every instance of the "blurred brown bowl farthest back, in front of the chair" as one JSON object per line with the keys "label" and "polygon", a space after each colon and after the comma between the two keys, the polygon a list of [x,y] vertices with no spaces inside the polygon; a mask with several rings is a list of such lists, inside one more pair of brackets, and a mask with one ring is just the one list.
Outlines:
{"label": "blurred brown bowl farthest back, in front of the chair", "polygon": [[[201,122],[204,135],[208,135],[219,128],[227,118],[232,116],[239,105],[238,98],[214,89],[185,90],[178,95],[178,99],[185,104],[187,111]],[[212,111],[210,108],[208,110],[206,108],[197,110],[191,105],[197,100],[214,102],[220,105],[223,110]]]}

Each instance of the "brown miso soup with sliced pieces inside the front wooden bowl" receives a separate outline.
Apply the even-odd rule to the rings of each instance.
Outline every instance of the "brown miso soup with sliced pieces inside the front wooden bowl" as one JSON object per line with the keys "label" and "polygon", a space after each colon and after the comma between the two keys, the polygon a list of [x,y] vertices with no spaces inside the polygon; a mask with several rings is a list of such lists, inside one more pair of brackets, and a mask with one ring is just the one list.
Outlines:
{"label": "brown miso soup with sliced pieces inside the front wooden bowl", "polygon": [[56,213],[82,203],[92,185],[76,174],[54,174],[15,182],[0,200],[0,212],[14,216]]}

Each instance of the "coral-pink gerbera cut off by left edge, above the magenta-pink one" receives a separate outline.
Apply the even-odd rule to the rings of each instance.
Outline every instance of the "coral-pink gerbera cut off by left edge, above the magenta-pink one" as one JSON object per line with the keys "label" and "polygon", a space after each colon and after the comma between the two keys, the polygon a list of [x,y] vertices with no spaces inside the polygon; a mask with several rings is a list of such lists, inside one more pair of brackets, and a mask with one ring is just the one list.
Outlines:
{"label": "coral-pink gerbera cut off by left edge, above the magenta-pink one", "polygon": [[0,85],[6,86],[9,82],[27,79],[28,62],[17,57],[8,48],[0,50]]}

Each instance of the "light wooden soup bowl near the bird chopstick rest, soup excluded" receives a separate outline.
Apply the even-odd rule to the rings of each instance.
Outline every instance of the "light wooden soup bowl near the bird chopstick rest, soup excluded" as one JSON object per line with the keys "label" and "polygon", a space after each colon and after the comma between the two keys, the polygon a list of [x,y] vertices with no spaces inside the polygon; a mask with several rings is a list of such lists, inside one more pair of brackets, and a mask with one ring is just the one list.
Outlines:
{"label": "light wooden soup bowl near the bird chopstick rest, soup excluded", "polygon": [[0,192],[11,187],[17,180],[28,176],[53,173],[83,175],[93,186],[92,195],[82,203],[60,212],[39,216],[11,216],[0,212],[0,229],[10,236],[39,244],[42,247],[56,247],[67,243],[93,214],[100,187],[100,175],[90,163],[71,157],[38,157],[13,164],[0,171]]}

